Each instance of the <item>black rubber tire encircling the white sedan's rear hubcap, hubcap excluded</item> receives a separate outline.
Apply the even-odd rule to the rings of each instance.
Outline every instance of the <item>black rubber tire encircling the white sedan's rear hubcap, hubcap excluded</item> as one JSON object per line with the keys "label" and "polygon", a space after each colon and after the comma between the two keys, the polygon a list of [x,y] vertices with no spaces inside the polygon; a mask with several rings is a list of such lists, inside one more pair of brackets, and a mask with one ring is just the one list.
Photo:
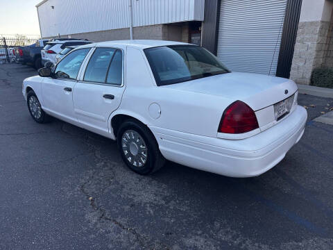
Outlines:
{"label": "black rubber tire encircling the white sedan's rear hubcap, hubcap excluded", "polygon": [[[144,144],[146,146],[146,161],[144,164],[142,164],[142,166],[135,166],[135,161],[134,163],[130,163],[130,160],[128,160],[128,156],[133,156],[132,151],[128,152],[127,156],[125,155],[124,151],[126,151],[128,147],[125,147],[126,149],[123,150],[123,145],[126,145],[126,142],[123,142],[123,135],[126,136],[125,133],[128,131],[135,131],[141,136],[141,139],[144,140]],[[149,129],[144,124],[137,122],[135,119],[128,119],[123,122],[123,124],[121,124],[117,133],[117,144],[121,154],[121,158],[123,158],[124,163],[126,163],[126,165],[131,170],[138,174],[146,175],[156,172],[158,169],[163,167],[165,163],[165,159],[162,156],[160,149],[158,148],[158,144],[155,140],[153,133],[151,133],[151,131],[149,131]],[[141,163],[143,162],[144,161],[141,158]]]}

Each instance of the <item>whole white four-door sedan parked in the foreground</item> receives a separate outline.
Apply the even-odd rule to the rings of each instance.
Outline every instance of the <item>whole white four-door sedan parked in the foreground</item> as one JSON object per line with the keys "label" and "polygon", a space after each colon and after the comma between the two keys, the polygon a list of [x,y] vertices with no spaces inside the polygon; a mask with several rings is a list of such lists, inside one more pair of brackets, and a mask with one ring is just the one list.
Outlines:
{"label": "whole white four-door sedan parked in the foreground", "polygon": [[117,140],[139,174],[167,159],[258,176],[300,140],[307,120],[293,81],[229,72],[212,53],[181,42],[87,44],[39,74],[23,83],[33,119],[51,115]]}

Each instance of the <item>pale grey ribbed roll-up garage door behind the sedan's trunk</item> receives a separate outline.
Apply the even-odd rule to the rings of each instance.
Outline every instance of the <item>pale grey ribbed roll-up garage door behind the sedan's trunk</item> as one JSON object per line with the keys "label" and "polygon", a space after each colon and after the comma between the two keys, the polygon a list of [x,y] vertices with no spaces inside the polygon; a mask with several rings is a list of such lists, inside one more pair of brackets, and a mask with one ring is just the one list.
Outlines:
{"label": "pale grey ribbed roll-up garage door behind the sedan's trunk", "polygon": [[221,0],[217,56],[231,71],[275,76],[287,0]]}

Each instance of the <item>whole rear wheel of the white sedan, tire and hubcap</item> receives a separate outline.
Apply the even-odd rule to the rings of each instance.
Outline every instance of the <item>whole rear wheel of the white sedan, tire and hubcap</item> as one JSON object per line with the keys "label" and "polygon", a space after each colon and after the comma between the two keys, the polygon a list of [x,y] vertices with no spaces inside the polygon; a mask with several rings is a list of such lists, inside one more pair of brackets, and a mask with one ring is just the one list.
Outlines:
{"label": "whole rear wheel of the white sedan, tire and hubcap", "polygon": [[151,174],[164,165],[165,159],[154,135],[134,119],[121,124],[117,143],[123,161],[138,174]]}

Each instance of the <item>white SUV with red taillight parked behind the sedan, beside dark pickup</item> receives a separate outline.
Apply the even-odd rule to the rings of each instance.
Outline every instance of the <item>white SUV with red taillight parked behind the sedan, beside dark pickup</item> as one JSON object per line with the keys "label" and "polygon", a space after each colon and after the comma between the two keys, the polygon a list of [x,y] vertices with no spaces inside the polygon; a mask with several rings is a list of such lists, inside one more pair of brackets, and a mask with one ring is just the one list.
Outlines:
{"label": "white SUV with red taillight parked behind the sedan, beside dark pickup", "polygon": [[57,54],[66,47],[74,45],[84,45],[89,43],[92,42],[89,42],[87,40],[75,40],[73,38],[58,38],[50,40],[46,43],[45,47],[40,52],[42,55],[42,65],[45,65],[46,62],[56,64]]}

